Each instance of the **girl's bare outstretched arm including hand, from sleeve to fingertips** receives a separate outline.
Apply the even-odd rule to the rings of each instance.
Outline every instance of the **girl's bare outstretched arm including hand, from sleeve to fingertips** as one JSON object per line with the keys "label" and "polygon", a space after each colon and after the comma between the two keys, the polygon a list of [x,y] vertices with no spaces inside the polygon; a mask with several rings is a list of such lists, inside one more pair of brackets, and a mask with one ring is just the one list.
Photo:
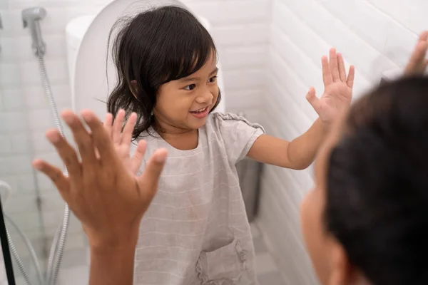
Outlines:
{"label": "girl's bare outstretched arm including hand, from sleeve to fingertips", "polygon": [[342,55],[332,48],[330,61],[327,56],[322,57],[324,94],[318,99],[315,96],[315,89],[310,88],[306,95],[307,100],[319,115],[312,127],[291,142],[270,135],[261,135],[254,142],[247,156],[270,165],[295,170],[307,168],[315,159],[318,147],[332,121],[343,109],[350,106],[354,74],[354,67],[350,66],[349,74],[346,75]]}

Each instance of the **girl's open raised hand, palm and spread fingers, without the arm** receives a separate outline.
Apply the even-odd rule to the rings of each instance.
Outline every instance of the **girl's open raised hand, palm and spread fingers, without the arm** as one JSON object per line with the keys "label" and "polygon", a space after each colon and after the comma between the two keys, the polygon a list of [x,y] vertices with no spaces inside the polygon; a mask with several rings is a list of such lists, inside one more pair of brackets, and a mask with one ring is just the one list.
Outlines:
{"label": "girl's open raised hand, palm and spread fingers, without the arm", "polygon": [[322,123],[330,125],[343,109],[350,106],[355,68],[350,66],[347,75],[343,57],[340,53],[336,53],[334,48],[330,49],[330,61],[327,56],[322,56],[321,61],[324,93],[321,98],[317,98],[315,89],[310,88],[306,99],[320,116]]}

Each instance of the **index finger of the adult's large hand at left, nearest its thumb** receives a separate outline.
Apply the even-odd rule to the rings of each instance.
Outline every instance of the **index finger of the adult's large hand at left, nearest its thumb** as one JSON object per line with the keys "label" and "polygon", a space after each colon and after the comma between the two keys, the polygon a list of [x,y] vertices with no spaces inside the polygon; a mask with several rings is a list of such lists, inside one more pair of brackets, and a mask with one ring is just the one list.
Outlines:
{"label": "index finger of the adult's large hand at left, nearest its thumb", "polygon": [[93,144],[99,152],[101,163],[108,165],[109,163],[116,162],[116,152],[113,143],[101,121],[91,110],[82,110],[81,115],[89,128],[91,128]]}

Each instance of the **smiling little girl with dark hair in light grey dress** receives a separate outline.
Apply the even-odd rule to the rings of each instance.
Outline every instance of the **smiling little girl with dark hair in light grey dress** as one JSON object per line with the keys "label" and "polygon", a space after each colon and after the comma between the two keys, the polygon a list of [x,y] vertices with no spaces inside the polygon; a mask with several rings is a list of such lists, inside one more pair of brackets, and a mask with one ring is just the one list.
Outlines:
{"label": "smiling little girl with dark hair in light grey dress", "polygon": [[[138,145],[146,140],[146,157],[168,150],[158,192],[141,223],[135,284],[257,284],[235,164],[248,156],[305,169],[330,122],[350,105],[354,69],[346,76],[342,56],[332,50],[330,65],[322,58],[322,98],[313,88],[307,93],[320,118],[292,142],[273,138],[237,115],[213,113],[221,98],[217,59],[208,31],[177,6],[138,14],[113,42],[118,84],[108,111],[116,125],[124,117],[137,122],[133,138]],[[141,149],[132,152],[138,157]]]}

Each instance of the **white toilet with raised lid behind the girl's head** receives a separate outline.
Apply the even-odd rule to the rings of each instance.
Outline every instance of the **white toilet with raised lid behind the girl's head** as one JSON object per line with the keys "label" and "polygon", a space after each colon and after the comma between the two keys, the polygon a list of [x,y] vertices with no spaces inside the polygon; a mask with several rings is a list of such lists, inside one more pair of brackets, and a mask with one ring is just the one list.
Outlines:
{"label": "white toilet with raised lid behind the girl's head", "polygon": [[[118,18],[134,15],[143,9],[159,4],[179,4],[179,1],[136,1],[116,0],[93,16],[81,16],[73,19],[66,27],[68,74],[71,85],[71,102],[75,112],[91,109],[99,118],[106,114],[106,100],[116,84],[116,71],[108,53],[108,33]],[[206,19],[198,17],[210,31]],[[220,63],[219,66],[220,68]],[[107,80],[108,78],[108,80]],[[221,68],[218,73],[218,85],[222,91],[222,100],[216,111],[225,111],[225,90]]]}

